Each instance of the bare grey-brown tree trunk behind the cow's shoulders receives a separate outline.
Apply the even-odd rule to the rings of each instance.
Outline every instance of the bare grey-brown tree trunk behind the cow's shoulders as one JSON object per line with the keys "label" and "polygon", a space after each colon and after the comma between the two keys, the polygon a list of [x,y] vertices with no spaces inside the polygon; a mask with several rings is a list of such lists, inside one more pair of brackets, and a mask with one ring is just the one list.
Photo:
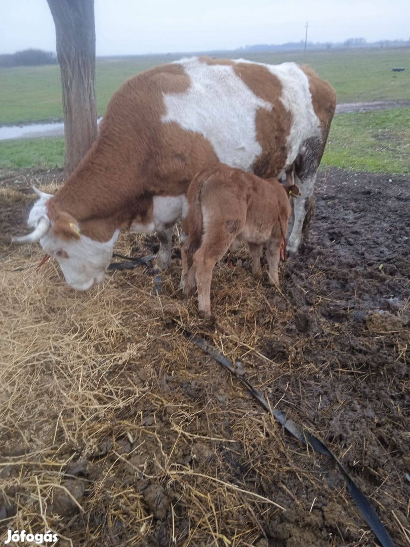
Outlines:
{"label": "bare grey-brown tree trunk behind the cow's shoulders", "polygon": [[56,26],[68,176],[97,137],[94,0],[47,2]]}

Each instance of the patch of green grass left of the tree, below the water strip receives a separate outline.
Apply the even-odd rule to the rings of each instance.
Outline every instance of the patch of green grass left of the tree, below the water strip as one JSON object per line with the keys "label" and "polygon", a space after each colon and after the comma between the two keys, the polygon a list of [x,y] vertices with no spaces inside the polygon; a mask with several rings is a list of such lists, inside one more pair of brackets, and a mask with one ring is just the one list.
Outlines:
{"label": "patch of green grass left of the tree, below the water strip", "polygon": [[63,162],[63,137],[0,141],[0,169],[50,169]]}

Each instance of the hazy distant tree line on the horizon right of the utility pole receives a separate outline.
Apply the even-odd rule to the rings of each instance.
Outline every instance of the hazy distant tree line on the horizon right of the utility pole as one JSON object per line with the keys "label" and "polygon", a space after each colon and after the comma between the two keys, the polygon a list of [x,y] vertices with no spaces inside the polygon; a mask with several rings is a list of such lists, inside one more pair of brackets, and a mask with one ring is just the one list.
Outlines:
{"label": "hazy distant tree line on the horizon right of the utility pole", "polygon": [[[378,40],[366,42],[365,38],[348,38],[344,42],[308,42],[307,49],[347,49],[347,48],[400,48],[410,46],[408,40]],[[304,40],[300,42],[286,42],[285,44],[255,44],[245,45],[236,51],[297,51],[304,49]]]}

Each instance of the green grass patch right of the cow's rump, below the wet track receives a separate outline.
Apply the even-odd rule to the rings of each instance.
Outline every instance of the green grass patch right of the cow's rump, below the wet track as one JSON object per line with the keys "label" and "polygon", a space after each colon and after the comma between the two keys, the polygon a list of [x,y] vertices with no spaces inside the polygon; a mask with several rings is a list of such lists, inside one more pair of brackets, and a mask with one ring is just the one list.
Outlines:
{"label": "green grass patch right of the cow's rump, below the wet track", "polygon": [[338,114],[321,166],[410,173],[410,108]]}

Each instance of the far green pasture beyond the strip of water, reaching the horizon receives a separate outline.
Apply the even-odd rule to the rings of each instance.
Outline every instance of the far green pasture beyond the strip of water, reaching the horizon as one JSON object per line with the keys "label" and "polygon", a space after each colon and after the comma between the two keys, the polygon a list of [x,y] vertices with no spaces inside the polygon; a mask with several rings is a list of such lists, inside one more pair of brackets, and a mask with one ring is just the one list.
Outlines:
{"label": "far green pasture beyond the strip of water, reaching the horizon", "polygon": [[[410,49],[314,51],[311,53],[225,52],[222,57],[241,57],[266,62],[296,61],[311,65],[336,89],[338,102],[400,100],[409,98]],[[97,110],[102,115],[114,91],[127,78],[179,55],[100,57],[96,63]],[[405,72],[391,72],[403,66]],[[0,69],[0,125],[62,118],[60,68],[16,67]]]}

